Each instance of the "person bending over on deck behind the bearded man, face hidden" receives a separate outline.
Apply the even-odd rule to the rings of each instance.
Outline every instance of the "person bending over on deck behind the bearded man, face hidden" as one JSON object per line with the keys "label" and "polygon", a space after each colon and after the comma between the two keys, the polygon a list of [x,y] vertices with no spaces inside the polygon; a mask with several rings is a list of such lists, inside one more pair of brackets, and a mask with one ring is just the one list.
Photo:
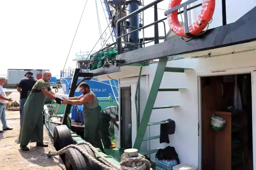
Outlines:
{"label": "person bending over on deck behind the bearded man, face hidden", "polygon": [[111,142],[111,137],[109,133],[109,122],[112,121],[113,124],[119,130],[119,126],[116,123],[118,120],[118,106],[109,106],[102,110],[100,115],[100,135],[102,137],[102,142],[105,148],[115,148],[115,143]]}

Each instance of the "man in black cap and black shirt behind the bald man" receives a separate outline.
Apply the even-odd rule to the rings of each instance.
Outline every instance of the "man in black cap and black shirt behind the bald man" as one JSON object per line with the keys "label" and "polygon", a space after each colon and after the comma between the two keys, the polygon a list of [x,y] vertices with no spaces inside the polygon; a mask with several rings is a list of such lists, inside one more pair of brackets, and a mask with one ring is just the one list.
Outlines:
{"label": "man in black cap and black shirt behind the bald man", "polygon": [[26,102],[26,99],[28,98],[28,92],[32,90],[32,87],[37,81],[37,79],[33,78],[33,73],[31,71],[26,72],[24,76],[26,76],[26,78],[22,78],[17,87],[17,91],[20,92],[20,125],[22,109]]}

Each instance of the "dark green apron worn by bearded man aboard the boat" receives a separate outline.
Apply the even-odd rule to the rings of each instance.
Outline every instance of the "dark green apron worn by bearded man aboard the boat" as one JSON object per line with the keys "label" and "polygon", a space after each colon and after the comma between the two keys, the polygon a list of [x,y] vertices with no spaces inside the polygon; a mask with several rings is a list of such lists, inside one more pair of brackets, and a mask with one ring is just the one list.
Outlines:
{"label": "dark green apron worn by bearded man aboard the boat", "polygon": [[94,95],[94,101],[91,104],[84,104],[83,117],[84,117],[84,141],[89,142],[94,147],[98,147],[104,152],[102,142],[99,135],[99,122],[101,107],[99,106],[98,99]]}

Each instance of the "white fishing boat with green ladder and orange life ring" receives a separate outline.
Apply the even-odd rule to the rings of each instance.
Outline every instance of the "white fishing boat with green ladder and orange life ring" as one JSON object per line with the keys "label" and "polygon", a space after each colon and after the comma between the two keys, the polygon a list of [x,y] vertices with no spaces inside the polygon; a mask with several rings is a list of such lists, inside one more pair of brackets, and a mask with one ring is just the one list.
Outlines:
{"label": "white fishing boat with green ladder and orange life ring", "polygon": [[[114,23],[116,42],[102,49],[117,47],[114,64],[90,72],[74,70],[73,80],[119,79],[120,121],[115,134],[119,145],[100,155],[118,165],[124,150],[134,148],[147,156],[155,170],[253,170],[255,4],[169,0],[168,10],[159,13],[157,5],[162,1],[139,8],[139,0],[127,0],[128,14]],[[140,27],[140,13],[151,8],[154,22]],[[159,20],[160,15],[163,19]],[[169,33],[160,31],[158,25],[163,21],[167,21]],[[154,37],[140,38],[139,30],[150,26],[154,26]],[[127,41],[122,38],[125,36]],[[144,46],[149,41],[154,45]],[[74,95],[78,84],[71,85],[69,96]],[[52,131],[66,134],[64,129],[72,128],[71,107],[67,104],[61,125],[52,127]],[[49,110],[45,106],[45,112]],[[49,120],[60,121],[55,117]],[[72,129],[66,134],[72,139],[70,143],[52,131],[58,141],[55,146],[84,141]],[[92,155],[97,158],[99,153]]]}

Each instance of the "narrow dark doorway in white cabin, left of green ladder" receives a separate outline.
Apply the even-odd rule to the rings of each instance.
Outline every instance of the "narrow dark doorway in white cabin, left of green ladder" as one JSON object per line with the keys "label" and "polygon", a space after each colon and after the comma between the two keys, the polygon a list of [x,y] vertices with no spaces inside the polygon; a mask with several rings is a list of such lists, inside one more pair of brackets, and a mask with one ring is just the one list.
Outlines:
{"label": "narrow dark doorway in white cabin, left of green ladder", "polygon": [[131,86],[120,87],[121,148],[131,148]]}

